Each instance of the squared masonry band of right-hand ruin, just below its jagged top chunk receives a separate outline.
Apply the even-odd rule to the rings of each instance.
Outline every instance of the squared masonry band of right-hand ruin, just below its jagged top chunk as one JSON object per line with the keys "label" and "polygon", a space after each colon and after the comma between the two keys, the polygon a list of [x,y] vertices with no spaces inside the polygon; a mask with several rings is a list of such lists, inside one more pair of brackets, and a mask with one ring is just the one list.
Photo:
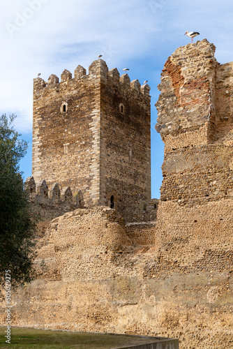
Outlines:
{"label": "squared masonry band of right-hand ruin, just below its jagged top chunk", "polygon": [[165,154],[160,200],[204,204],[233,193],[232,147],[213,143]]}

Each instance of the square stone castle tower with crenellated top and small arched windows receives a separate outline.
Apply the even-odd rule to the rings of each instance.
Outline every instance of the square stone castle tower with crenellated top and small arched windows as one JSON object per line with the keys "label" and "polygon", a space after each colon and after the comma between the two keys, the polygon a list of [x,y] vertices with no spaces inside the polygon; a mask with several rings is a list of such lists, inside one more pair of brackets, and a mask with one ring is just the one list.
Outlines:
{"label": "square stone castle tower with crenellated top and small arched windows", "polygon": [[33,164],[38,184],[70,186],[84,205],[126,220],[151,198],[149,86],[98,59],[33,82]]}

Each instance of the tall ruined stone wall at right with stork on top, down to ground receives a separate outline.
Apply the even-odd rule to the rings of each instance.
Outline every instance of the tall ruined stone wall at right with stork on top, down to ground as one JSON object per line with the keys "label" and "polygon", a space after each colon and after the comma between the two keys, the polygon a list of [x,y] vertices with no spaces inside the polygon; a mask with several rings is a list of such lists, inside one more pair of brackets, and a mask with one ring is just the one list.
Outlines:
{"label": "tall ruined stone wall at right with stork on top, down to ground", "polygon": [[[232,63],[218,64],[214,51],[207,40],[179,47],[167,59],[156,103],[165,158],[159,262],[148,273],[167,280],[170,304],[187,301],[186,321],[199,326],[195,348],[209,348],[215,329],[212,348],[227,348],[226,333],[232,343]],[[179,327],[183,320],[176,319]]]}

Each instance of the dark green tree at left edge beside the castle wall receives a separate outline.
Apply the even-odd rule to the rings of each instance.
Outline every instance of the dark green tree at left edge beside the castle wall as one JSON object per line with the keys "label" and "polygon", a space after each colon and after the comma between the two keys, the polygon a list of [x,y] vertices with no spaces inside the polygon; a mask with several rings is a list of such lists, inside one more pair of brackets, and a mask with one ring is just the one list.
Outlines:
{"label": "dark green tree at left edge beside the castle wall", "polygon": [[20,174],[27,142],[14,130],[14,119],[0,117],[0,285],[10,270],[13,286],[31,281],[33,275],[33,224]]}

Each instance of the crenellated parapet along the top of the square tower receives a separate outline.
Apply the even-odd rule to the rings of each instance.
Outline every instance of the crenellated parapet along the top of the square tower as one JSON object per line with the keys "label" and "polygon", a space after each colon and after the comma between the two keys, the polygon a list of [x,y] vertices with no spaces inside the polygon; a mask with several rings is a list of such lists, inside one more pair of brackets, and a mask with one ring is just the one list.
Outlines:
{"label": "crenellated parapet along the top of the square tower", "polygon": [[[72,73],[70,73],[69,70],[65,69],[63,70],[63,73],[61,73],[61,79],[59,81],[59,77],[57,75],[51,74],[48,78],[47,82],[43,80],[41,77],[36,77],[36,79],[33,80],[34,83],[34,89],[36,91],[50,88],[62,88],[63,84],[81,84],[84,82],[95,82],[95,80],[99,79],[102,80],[102,82],[115,82],[118,86],[118,88],[124,87],[128,88],[131,91],[136,91],[139,94],[142,94],[144,96],[149,96],[150,87],[148,84],[140,84],[138,80],[132,80],[130,81],[130,77],[128,74],[123,74],[120,76],[119,71],[117,68],[112,68],[109,70],[107,67],[107,64],[103,59],[98,59],[96,61],[93,61],[93,63],[89,66],[89,74],[87,75],[87,70],[83,66],[77,66],[74,72],[74,77],[72,76]],[[35,90],[34,90],[35,91]]]}

